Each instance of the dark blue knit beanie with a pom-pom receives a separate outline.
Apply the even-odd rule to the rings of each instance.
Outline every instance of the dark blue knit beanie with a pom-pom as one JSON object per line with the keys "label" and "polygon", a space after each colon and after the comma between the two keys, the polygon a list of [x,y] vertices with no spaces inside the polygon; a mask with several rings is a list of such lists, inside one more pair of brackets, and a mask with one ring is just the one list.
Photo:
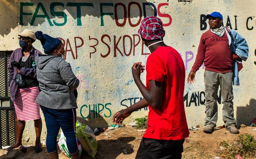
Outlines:
{"label": "dark blue knit beanie with a pom-pom", "polygon": [[53,38],[47,34],[43,34],[41,31],[35,33],[36,38],[40,40],[43,48],[45,49],[45,54],[50,53],[56,46],[61,43],[61,40],[58,38]]}

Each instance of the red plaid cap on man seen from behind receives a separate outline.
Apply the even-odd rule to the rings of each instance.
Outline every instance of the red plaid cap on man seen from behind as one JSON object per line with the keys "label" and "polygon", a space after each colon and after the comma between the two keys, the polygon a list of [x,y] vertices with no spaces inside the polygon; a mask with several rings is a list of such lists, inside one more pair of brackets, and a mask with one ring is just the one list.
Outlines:
{"label": "red plaid cap on man seen from behind", "polygon": [[151,16],[141,21],[138,33],[147,40],[154,40],[164,37],[165,31],[162,20]]}

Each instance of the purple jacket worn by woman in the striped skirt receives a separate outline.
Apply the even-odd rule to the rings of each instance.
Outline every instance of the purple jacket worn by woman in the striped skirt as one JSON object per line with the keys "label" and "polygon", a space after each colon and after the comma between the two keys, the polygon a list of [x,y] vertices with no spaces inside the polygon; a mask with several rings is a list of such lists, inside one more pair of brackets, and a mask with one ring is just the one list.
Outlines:
{"label": "purple jacket worn by woman in the striped skirt", "polygon": [[[38,54],[42,54],[40,51],[36,50],[33,46],[30,51],[30,56],[32,58],[35,58]],[[22,48],[17,48],[16,50],[11,53],[10,62],[8,65],[8,71],[9,71],[9,81],[8,86],[10,87],[10,95],[11,100],[14,101],[16,96],[16,91],[18,89],[18,85],[15,83],[14,79],[17,77],[17,71],[16,67],[13,67],[13,60],[19,62],[19,60],[22,58]],[[31,78],[37,78],[37,70],[36,69],[30,69],[30,68],[21,68],[21,75],[22,76],[29,76]]]}

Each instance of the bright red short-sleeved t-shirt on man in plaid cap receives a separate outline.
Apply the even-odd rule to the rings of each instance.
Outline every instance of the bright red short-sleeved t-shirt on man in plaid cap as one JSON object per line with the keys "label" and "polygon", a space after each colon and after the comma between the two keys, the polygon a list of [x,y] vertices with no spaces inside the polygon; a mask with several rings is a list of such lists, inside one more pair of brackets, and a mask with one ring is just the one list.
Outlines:
{"label": "bright red short-sleeved t-shirt on man in plaid cap", "polygon": [[182,140],[189,131],[184,108],[185,67],[180,54],[172,47],[160,46],[148,56],[146,63],[147,88],[149,80],[164,83],[161,109],[148,105],[148,128],[143,138]]}

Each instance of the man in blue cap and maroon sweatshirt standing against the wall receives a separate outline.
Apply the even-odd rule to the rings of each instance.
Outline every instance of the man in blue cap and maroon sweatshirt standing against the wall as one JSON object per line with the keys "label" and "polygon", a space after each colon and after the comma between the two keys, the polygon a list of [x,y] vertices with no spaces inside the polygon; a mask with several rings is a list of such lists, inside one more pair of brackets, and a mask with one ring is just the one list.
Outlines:
{"label": "man in blue cap and maroon sweatshirt standing against the wall", "polygon": [[195,63],[188,75],[187,82],[195,81],[195,72],[204,62],[205,84],[205,133],[212,133],[218,118],[217,93],[220,86],[223,98],[223,121],[230,133],[239,133],[236,129],[233,108],[233,87],[239,86],[238,71],[241,61],[248,58],[248,45],[245,38],[234,30],[223,26],[223,17],[219,12],[206,16],[210,29],[203,33],[198,46]]}

